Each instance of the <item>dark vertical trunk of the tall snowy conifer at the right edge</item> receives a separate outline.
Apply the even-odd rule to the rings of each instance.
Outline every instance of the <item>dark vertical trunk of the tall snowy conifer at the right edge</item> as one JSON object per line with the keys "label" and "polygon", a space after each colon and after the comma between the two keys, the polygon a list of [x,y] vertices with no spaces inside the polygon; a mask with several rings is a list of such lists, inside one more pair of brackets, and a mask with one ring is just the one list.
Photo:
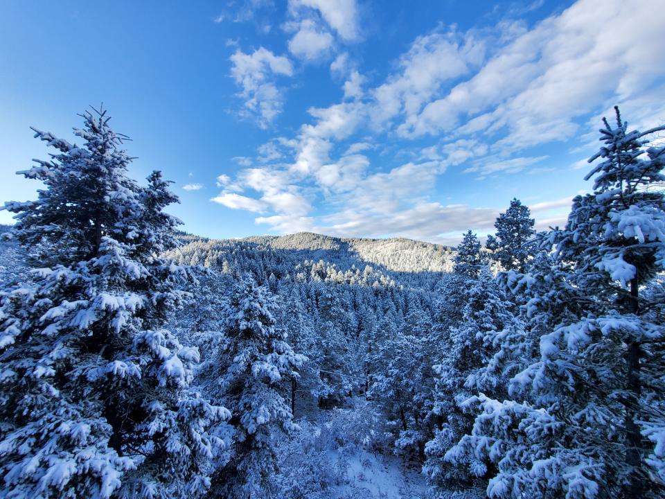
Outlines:
{"label": "dark vertical trunk of the tall snowy conifer at the right edge", "polygon": [[[630,281],[630,312],[639,313],[637,277]],[[641,344],[636,338],[628,338],[626,342],[626,464],[630,470],[629,489],[624,496],[630,498],[644,497],[644,477],[641,476],[642,456],[641,441],[637,421],[639,420],[639,400],[641,398],[640,360]]]}

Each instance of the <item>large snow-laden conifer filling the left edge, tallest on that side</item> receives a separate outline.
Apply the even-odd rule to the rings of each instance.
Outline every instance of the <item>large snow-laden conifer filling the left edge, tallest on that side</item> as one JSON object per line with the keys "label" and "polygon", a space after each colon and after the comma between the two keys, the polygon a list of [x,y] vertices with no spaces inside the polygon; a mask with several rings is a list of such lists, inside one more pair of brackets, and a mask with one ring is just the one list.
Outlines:
{"label": "large snow-laden conifer filling the left edge, tallest on that side", "polygon": [[190,277],[159,256],[177,197],[127,177],[105,111],[82,117],[80,147],[35,130],[57,153],[19,174],[45,188],[5,205],[40,268],[0,294],[0,495],[197,497],[229,414],[186,394],[198,352],[161,329]]}

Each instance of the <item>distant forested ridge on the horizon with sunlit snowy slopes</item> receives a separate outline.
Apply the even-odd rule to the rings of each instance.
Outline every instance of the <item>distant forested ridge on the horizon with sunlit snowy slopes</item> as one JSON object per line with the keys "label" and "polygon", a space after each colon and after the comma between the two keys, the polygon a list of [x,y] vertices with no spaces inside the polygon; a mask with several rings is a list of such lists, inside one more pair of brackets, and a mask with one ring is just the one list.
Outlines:
{"label": "distant forested ridge on the horizon with sunlit snowy slopes", "polygon": [[441,282],[441,274],[452,270],[454,254],[449,247],[405,238],[336,238],[310,232],[241,239],[184,234],[181,240],[184,246],[166,254],[175,263],[206,265],[233,274],[250,272],[259,283],[271,276],[277,280],[332,278],[432,290]]}

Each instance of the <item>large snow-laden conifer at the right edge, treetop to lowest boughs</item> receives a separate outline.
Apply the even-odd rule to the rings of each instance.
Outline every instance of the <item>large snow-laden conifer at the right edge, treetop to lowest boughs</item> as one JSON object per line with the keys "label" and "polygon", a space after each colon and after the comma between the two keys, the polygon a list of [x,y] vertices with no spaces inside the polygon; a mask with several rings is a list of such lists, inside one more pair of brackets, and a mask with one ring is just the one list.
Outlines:
{"label": "large snow-laden conifer at the right edge, treetop to lowest boughs", "polygon": [[[603,120],[594,193],[578,196],[529,301],[540,358],[511,380],[523,403],[470,399],[479,416],[446,458],[497,464],[490,497],[662,497],[664,304],[647,288],[665,263],[664,148]],[[541,272],[544,267],[541,267]],[[538,324],[540,322],[540,324]],[[526,389],[526,392],[518,390]],[[644,438],[643,438],[644,437]],[[648,440],[652,447],[648,448]],[[546,496],[547,497],[547,496]]]}

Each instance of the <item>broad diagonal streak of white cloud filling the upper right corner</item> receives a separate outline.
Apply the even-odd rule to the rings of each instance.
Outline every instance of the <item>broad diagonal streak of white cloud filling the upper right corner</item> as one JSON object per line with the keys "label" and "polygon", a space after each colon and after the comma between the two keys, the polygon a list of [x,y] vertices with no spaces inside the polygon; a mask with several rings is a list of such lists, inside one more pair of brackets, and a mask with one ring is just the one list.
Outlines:
{"label": "broad diagonal streak of white cloud filling the upper right corner", "polygon": [[[575,119],[605,100],[635,96],[662,76],[665,18],[659,0],[580,0],[502,46],[475,76],[428,103],[405,135],[502,132],[516,150],[564,140]],[[617,35],[621,33],[621,35]]]}

